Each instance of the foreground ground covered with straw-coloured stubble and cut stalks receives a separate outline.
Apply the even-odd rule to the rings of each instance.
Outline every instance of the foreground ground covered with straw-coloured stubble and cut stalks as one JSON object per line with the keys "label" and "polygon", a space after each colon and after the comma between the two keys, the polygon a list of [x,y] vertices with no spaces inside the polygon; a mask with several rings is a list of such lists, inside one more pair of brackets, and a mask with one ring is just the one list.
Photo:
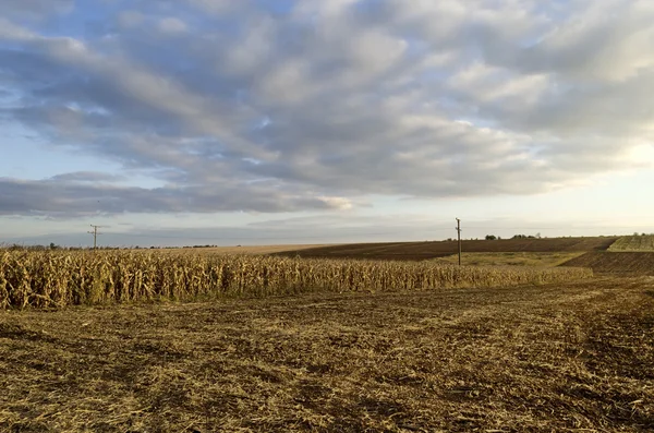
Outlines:
{"label": "foreground ground covered with straw-coloured stubble and cut stalks", "polygon": [[0,431],[652,432],[654,278],[0,312]]}

